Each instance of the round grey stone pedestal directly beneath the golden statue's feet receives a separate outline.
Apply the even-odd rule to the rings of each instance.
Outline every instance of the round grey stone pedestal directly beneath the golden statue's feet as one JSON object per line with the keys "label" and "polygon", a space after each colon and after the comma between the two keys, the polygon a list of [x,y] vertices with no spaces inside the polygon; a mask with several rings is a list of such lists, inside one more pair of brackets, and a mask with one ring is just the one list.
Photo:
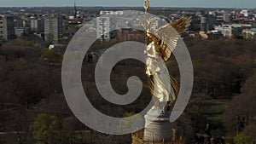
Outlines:
{"label": "round grey stone pedestal directly beneath the golden statue's feet", "polygon": [[170,113],[148,112],[145,118],[143,141],[148,143],[172,141]]}

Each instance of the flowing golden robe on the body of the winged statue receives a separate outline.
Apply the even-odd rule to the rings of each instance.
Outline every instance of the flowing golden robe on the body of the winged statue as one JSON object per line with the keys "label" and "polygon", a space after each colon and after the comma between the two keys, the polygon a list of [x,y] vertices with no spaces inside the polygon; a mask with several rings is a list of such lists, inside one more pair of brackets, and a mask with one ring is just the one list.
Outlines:
{"label": "flowing golden robe on the body of the winged statue", "polygon": [[[175,101],[176,95],[172,89],[166,63],[160,54],[159,44],[149,43],[144,53],[146,55],[146,74],[149,78],[149,88],[154,96],[154,107],[164,110],[167,101]],[[155,100],[156,99],[156,100]],[[160,106],[160,105],[163,106]]]}

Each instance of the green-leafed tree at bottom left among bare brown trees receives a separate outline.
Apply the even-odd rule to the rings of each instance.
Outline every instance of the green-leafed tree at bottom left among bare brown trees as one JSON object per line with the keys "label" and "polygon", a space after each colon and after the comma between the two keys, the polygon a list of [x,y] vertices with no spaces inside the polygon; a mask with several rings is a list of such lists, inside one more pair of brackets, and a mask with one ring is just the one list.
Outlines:
{"label": "green-leafed tree at bottom left among bare brown trees", "polygon": [[32,136],[37,144],[53,144],[57,138],[56,133],[61,125],[55,116],[45,113],[38,114],[31,125]]}

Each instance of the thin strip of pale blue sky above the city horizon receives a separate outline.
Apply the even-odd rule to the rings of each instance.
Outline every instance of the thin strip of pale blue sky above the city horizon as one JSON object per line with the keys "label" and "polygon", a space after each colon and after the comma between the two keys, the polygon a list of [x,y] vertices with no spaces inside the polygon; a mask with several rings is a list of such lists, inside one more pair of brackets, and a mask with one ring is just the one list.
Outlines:
{"label": "thin strip of pale blue sky above the city horizon", "polygon": [[[144,0],[76,0],[79,6],[143,6]],[[74,0],[0,0],[0,7],[73,6]],[[150,0],[152,6],[256,8],[256,0]]]}

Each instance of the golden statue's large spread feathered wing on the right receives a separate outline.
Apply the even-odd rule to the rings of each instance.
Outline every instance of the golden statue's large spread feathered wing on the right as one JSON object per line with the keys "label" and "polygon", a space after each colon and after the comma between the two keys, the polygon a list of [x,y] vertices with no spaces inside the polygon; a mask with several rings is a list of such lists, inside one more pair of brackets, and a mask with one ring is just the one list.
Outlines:
{"label": "golden statue's large spread feathered wing on the right", "polygon": [[177,40],[190,26],[191,17],[182,17],[177,21],[161,26],[156,34],[160,37],[160,53],[164,60],[168,60],[176,48]]}

